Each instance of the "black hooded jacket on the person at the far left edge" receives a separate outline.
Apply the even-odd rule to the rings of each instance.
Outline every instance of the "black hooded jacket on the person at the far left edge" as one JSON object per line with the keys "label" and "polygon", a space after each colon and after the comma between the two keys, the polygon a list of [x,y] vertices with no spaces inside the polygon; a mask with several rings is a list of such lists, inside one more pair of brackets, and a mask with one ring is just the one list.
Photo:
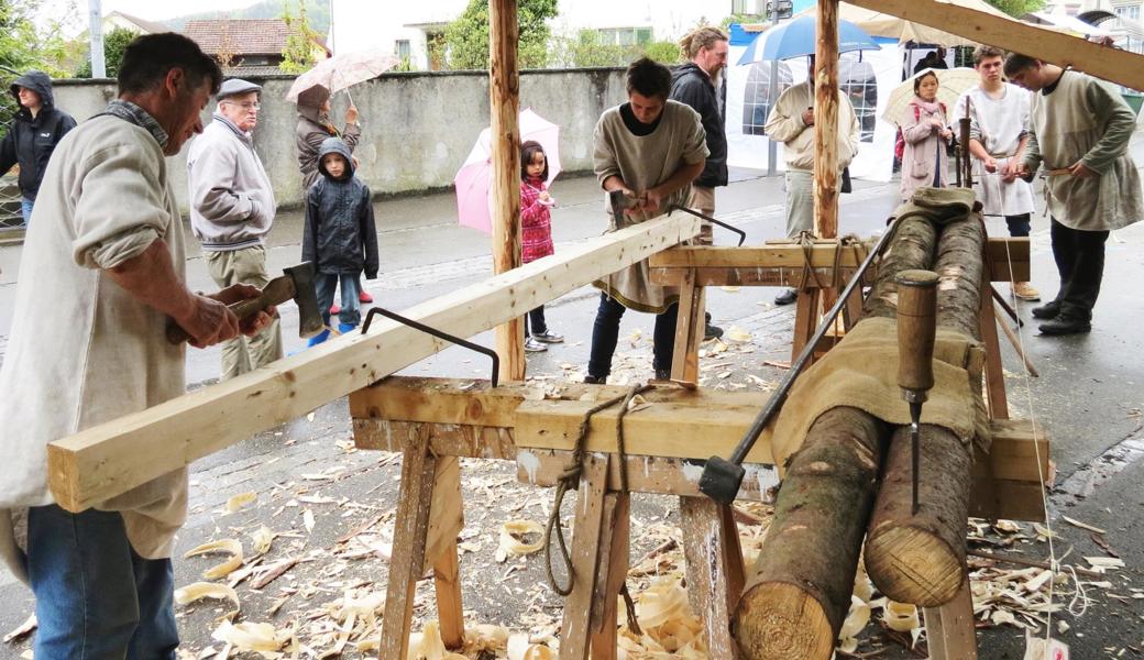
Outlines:
{"label": "black hooded jacket on the person at the far left edge", "polygon": [[57,110],[51,95],[51,79],[42,71],[29,71],[16,79],[9,88],[19,102],[18,92],[25,87],[40,95],[43,106],[32,118],[26,108],[16,112],[8,135],[0,142],[0,174],[19,164],[19,193],[31,200],[40,191],[48,159],[63,136],[76,128],[71,114]]}

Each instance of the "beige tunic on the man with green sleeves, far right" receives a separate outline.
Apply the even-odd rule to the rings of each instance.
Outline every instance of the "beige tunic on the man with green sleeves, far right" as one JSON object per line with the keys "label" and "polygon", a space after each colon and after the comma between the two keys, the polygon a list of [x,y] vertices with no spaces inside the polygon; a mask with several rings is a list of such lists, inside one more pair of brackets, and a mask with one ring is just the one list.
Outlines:
{"label": "beige tunic on the man with green sleeves, far right", "polygon": [[1107,82],[1065,71],[1050,94],[1033,96],[1025,164],[1059,169],[1078,161],[1099,174],[1090,178],[1048,176],[1049,213],[1080,231],[1107,231],[1144,217],[1141,177],[1128,153],[1136,118]]}

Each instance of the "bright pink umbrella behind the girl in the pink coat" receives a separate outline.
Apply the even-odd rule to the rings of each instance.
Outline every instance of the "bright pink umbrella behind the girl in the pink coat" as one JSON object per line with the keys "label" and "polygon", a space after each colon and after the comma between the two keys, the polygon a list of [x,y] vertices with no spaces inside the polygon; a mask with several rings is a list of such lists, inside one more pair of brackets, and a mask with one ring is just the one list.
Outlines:
{"label": "bright pink umbrella behind the girl in the pink coat", "polygon": [[[556,175],[561,173],[559,136],[561,127],[543,119],[539,114],[527,109],[521,112],[518,119],[521,127],[521,142],[535,140],[545,148],[545,156],[548,158],[548,181],[551,183]],[[464,165],[456,170],[453,177],[453,185],[456,186],[456,216],[461,224],[479,229],[485,233],[492,233],[492,130],[486,128],[480,132],[477,143],[472,145],[472,151],[464,159]]]}

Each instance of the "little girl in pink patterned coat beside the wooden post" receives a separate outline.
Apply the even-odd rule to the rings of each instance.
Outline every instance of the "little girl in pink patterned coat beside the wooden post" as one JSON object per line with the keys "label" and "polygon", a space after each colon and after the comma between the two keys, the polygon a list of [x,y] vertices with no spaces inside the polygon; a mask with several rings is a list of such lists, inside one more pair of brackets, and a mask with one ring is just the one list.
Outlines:
{"label": "little girl in pink patterned coat beside the wooden post", "polygon": [[[539,142],[521,145],[521,262],[529,263],[553,254],[553,198],[548,194],[548,157]],[[524,320],[524,350],[548,350],[546,344],[564,341],[564,335],[548,329],[545,305],[529,312]]]}

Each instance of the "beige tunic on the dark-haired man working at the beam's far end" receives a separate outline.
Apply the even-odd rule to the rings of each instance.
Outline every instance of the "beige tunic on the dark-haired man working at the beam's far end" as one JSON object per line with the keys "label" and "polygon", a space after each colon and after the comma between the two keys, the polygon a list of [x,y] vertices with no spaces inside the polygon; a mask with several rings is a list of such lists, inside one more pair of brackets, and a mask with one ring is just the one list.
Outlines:
{"label": "beige tunic on the dark-haired man working at the beam's far end", "polygon": [[[676,101],[667,101],[660,114],[659,125],[650,135],[634,135],[623,125],[620,106],[605,110],[596,124],[593,169],[601,185],[609,176],[619,176],[634,192],[659,185],[682,165],[704,162],[707,144],[699,113]],[[691,185],[684,185],[666,199],[659,213],[623,215],[617,226],[609,198],[604,196],[607,212],[607,232],[623,229],[664,215],[673,205],[685,206],[691,194]],[[676,287],[652,284],[648,260],[612,273],[594,283],[623,307],[636,311],[660,313],[680,299]]]}

